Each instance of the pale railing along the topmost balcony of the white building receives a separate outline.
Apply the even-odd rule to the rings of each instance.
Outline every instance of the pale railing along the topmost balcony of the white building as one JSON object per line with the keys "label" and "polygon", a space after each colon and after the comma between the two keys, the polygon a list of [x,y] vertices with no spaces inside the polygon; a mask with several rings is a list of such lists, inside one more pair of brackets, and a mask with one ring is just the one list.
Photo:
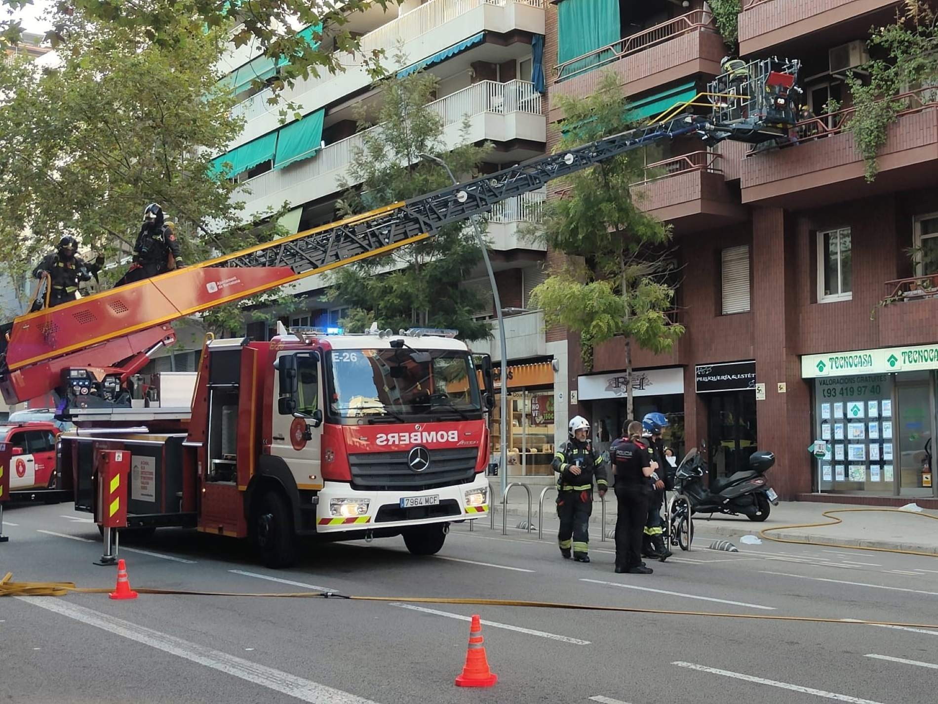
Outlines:
{"label": "pale railing along the topmost balcony of the white building", "polygon": [[[337,58],[340,66],[344,69],[353,69],[361,66],[364,59],[370,57],[374,51],[384,50],[386,54],[392,54],[399,41],[404,43],[413,41],[476,8],[486,5],[504,8],[511,3],[527,5],[532,8],[543,8],[544,2],[545,0],[431,0],[431,2],[412,9],[410,12],[363,35],[359,40],[360,52],[354,54],[341,53]],[[440,47],[440,49],[444,48]],[[418,61],[426,57],[411,56],[410,58]],[[297,81],[293,87],[284,88],[281,97],[284,100],[299,102],[310,91],[336,80],[340,75],[341,73],[333,74],[327,71],[320,73],[319,76],[310,75],[306,80]],[[234,116],[244,117],[248,121],[254,117],[265,115],[271,109],[267,99],[272,95],[272,91],[267,88],[235,105],[232,113]]]}

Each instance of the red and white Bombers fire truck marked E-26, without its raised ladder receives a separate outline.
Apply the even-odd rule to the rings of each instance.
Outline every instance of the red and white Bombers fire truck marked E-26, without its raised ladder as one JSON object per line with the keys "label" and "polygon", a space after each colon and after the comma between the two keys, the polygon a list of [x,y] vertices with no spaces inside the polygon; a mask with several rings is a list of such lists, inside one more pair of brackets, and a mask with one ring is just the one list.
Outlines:
{"label": "red and white Bombers fire truck marked E-26, without its raised ladder", "polygon": [[76,416],[96,426],[61,439],[76,508],[96,512],[96,458],[118,450],[131,455],[129,528],[250,538],[271,567],[295,559],[299,536],[402,535],[433,554],[451,521],[489,510],[488,358],[445,330],[280,332],[207,342],[188,414]]}

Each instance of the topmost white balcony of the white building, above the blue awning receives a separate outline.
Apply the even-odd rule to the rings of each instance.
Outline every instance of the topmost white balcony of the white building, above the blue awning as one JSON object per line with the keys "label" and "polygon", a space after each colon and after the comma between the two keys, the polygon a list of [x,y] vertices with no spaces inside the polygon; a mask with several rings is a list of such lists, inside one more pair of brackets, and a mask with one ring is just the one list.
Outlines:
{"label": "topmost white balcony of the white building, above the blue awning", "polygon": [[[281,99],[310,113],[371,85],[363,66],[363,56],[384,50],[386,61],[403,42],[403,52],[412,62],[419,61],[458,44],[479,32],[508,34],[515,30],[544,34],[545,0],[431,0],[361,37],[360,54],[341,54],[341,73],[324,72],[310,76],[284,89]],[[280,126],[280,105],[270,105],[267,89],[234,106],[234,116],[245,119],[245,129],[236,146],[250,142]]]}

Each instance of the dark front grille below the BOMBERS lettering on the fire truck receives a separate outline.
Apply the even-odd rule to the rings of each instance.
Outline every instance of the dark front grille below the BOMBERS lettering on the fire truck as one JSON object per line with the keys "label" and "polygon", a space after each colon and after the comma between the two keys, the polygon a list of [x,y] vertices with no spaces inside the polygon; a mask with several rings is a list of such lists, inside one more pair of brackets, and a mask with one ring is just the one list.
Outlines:
{"label": "dark front grille below the BOMBERS lettering on the fire truck", "polygon": [[430,467],[422,472],[412,471],[407,466],[407,454],[408,452],[350,454],[352,487],[371,491],[423,491],[438,486],[471,482],[476,474],[478,448],[431,450]]}

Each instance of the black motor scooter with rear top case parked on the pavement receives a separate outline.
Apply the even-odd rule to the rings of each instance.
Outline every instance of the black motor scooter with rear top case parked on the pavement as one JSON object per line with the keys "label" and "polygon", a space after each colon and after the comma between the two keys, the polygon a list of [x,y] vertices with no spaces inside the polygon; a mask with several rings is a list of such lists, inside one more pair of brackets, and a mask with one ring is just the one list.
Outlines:
{"label": "black motor scooter with rear top case parked on the pavement", "polygon": [[674,473],[674,490],[678,496],[688,499],[691,513],[742,514],[750,521],[764,521],[771,510],[770,504],[779,505],[779,496],[764,476],[774,464],[772,452],[753,452],[749,456],[748,470],[715,480],[706,487],[703,485],[703,455],[693,448]]}

